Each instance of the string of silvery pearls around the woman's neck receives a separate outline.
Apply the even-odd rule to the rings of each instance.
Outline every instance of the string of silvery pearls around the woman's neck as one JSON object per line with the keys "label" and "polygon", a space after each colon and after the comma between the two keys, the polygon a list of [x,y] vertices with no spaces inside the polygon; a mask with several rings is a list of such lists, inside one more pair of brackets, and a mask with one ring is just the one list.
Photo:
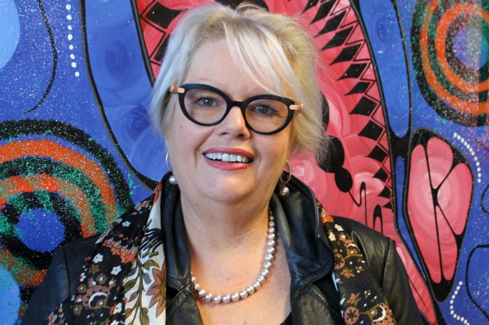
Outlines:
{"label": "string of silvery pearls around the woman's neck", "polygon": [[234,292],[233,294],[224,294],[224,295],[215,295],[211,294],[211,292],[207,292],[205,289],[202,289],[200,284],[197,283],[197,279],[192,275],[192,285],[193,290],[197,294],[197,297],[203,298],[205,301],[212,301],[213,303],[229,303],[231,301],[239,301],[240,299],[248,298],[251,294],[255,293],[258,289],[262,287],[267,277],[270,275],[271,262],[274,261],[275,254],[275,238],[276,238],[276,229],[275,229],[275,219],[274,215],[271,214],[271,210],[269,208],[268,212],[268,235],[267,235],[267,249],[265,250],[265,257],[263,263],[263,269],[260,274],[257,276],[256,281],[251,285],[246,287],[239,292]]}

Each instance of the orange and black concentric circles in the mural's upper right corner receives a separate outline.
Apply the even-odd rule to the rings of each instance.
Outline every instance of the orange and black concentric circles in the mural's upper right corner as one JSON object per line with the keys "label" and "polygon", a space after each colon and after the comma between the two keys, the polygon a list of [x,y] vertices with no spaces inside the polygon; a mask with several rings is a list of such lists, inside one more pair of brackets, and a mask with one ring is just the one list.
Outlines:
{"label": "orange and black concentric circles in the mural's upper right corner", "polygon": [[411,45],[421,93],[442,117],[489,125],[489,1],[419,1]]}

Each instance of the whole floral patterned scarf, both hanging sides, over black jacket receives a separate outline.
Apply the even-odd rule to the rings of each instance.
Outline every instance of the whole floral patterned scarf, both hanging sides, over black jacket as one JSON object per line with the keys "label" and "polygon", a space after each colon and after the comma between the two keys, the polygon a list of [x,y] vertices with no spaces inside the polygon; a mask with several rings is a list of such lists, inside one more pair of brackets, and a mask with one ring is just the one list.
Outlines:
{"label": "whole floral patterned scarf, both hanging sides, over black jacket", "polygon": [[[44,324],[165,324],[166,265],[160,215],[164,180],[153,196],[100,236],[85,259],[76,293]],[[319,203],[318,211],[334,254],[345,323],[395,324],[357,245]]]}

